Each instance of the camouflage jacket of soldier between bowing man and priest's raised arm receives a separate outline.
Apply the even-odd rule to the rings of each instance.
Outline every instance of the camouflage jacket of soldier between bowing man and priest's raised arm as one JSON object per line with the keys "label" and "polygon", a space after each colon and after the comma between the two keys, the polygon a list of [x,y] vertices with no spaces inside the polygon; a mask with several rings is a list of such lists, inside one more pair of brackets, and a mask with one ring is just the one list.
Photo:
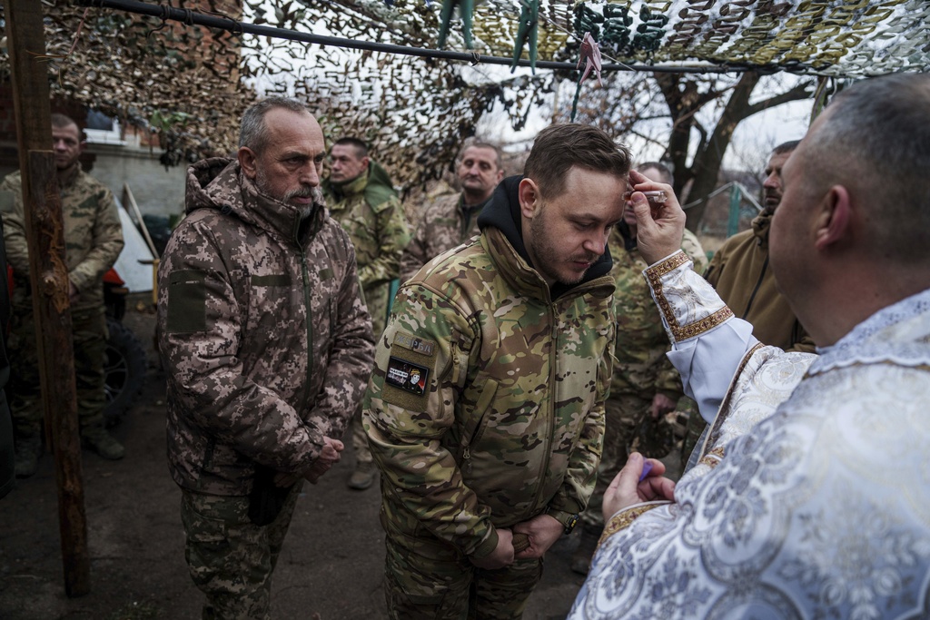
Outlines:
{"label": "camouflage jacket of soldier between bowing man and priest's raised arm", "polygon": [[[611,397],[633,394],[651,400],[656,393],[672,400],[682,395],[682,381],[665,356],[671,349],[662,327],[656,302],[643,277],[648,265],[636,248],[635,238],[620,223],[610,235],[614,268],[610,275],[617,283],[614,310],[617,312],[617,357]],[[707,255],[693,232],[685,229],[682,249],[700,272],[707,266]]]}

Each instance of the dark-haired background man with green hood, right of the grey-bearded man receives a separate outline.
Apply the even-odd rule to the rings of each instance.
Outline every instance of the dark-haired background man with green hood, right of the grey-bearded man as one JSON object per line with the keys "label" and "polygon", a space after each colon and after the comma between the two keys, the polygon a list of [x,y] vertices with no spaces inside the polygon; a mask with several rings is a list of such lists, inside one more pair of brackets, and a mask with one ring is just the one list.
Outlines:
{"label": "dark-haired background man with green hood, right of the grey-bearded man", "polygon": [[[368,147],[360,139],[343,138],[329,152],[331,172],[323,181],[329,215],[349,233],[355,246],[358,277],[372,330],[378,338],[384,331],[391,284],[400,274],[401,253],[410,241],[404,207],[394,193],[388,173],[371,161]],[[352,416],[352,448],[355,470],[348,485],[367,489],[375,481],[375,464],[362,429],[362,412]]]}

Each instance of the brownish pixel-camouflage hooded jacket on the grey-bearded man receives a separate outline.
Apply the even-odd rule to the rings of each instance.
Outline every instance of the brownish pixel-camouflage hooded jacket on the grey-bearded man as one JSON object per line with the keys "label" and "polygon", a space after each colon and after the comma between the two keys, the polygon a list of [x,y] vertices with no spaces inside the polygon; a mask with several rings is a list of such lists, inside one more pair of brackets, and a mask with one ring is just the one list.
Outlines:
{"label": "brownish pixel-camouflage hooded jacket on the grey-bearded man", "polygon": [[233,160],[191,166],[187,217],[158,270],[171,475],[246,495],[256,464],[309,468],[339,439],[371,372],[373,336],[349,236],[301,219]]}

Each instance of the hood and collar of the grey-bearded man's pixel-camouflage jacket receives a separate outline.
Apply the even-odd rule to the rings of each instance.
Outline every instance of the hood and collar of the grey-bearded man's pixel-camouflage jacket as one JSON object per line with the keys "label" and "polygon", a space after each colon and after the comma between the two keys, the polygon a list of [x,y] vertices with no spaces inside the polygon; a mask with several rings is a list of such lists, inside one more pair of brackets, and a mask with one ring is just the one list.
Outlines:
{"label": "hood and collar of the grey-bearded man's pixel-camouflage jacket", "polygon": [[[302,219],[297,207],[261,193],[242,174],[238,160],[226,157],[211,157],[187,170],[185,212],[190,214],[204,208],[234,214],[249,224],[295,239]],[[312,230],[317,230],[325,218],[323,193],[314,188],[313,211],[307,218],[312,222]]]}

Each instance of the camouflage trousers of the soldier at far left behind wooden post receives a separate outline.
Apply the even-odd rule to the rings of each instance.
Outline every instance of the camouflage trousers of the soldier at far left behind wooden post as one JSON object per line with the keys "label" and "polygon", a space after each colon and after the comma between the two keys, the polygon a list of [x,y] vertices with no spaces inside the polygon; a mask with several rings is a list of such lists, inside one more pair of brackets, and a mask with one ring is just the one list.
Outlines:
{"label": "camouflage trousers of the soldier at far left behind wooden post", "polygon": [[[77,415],[83,431],[103,423],[107,322],[103,309],[75,311],[71,321]],[[11,323],[7,397],[13,429],[17,437],[36,437],[42,432],[43,410],[33,314],[17,308]]]}

